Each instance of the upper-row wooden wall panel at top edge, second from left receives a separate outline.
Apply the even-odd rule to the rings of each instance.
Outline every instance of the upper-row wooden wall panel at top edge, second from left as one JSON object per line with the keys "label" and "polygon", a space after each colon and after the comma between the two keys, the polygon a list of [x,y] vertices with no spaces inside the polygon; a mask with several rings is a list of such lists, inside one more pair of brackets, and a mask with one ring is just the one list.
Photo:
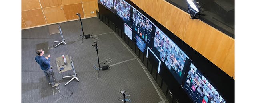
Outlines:
{"label": "upper-row wooden wall panel at top edge, second from left", "polygon": [[61,6],[61,0],[40,0],[42,8],[51,7],[51,6]]}

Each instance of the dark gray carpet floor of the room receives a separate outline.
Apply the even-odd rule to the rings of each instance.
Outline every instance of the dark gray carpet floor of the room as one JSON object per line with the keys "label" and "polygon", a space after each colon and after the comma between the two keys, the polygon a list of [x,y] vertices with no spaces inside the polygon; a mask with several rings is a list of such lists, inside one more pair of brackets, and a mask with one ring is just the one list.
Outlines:
{"label": "dark gray carpet floor of the room", "polygon": [[[49,34],[49,25],[22,30],[22,103],[123,103],[118,101],[120,90],[130,95],[131,103],[163,103],[166,97],[152,76],[130,47],[97,17],[82,19],[84,34],[94,38],[82,39],[80,20],[59,23],[66,45],[56,48],[54,41],[60,41],[60,33]],[[56,24],[55,24],[56,25]],[[95,70],[98,65],[97,52],[92,46],[98,44],[100,66],[108,70]],[[40,66],[34,60],[36,49],[44,49],[45,56],[51,54],[57,87],[51,87]],[[71,56],[77,77],[71,81],[63,76],[72,75],[72,70],[59,73],[56,58]],[[109,63],[106,59],[111,60]],[[97,78],[99,74],[99,78]],[[60,93],[53,95],[53,89]],[[72,93],[72,95],[71,95]],[[121,98],[122,99],[122,98]],[[126,103],[129,103],[128,101]]]}

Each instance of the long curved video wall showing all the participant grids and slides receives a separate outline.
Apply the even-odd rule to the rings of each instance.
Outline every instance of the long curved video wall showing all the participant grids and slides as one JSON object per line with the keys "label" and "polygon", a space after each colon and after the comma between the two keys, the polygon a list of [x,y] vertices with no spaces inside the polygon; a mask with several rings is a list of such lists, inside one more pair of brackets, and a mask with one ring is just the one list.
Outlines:
{"label": "long curved video wall showing all the participant grids and slides", "polygon": [[[183,85],[182,88],[193,102],[226,103],[206,77],[191,63],[188,55],[180,49],[184,47],[181,47],[179,43],[174,43],[173,38],[170,39],[165,29],[161,30],[160,26],[157,27],[150,19],[124,0],[98,1],[118,16],[117,18],[122,19],[120,21],[123,21],[124,33],[142,53],[145,53],[146,48],[150,49],[156,58],[161,60],[161,66],[158,67],[166,66],[167,71],[170,71],[170,74],[166,74],[174,76],[179,85]],[[185,73],[188,75],[186,76]]]}

